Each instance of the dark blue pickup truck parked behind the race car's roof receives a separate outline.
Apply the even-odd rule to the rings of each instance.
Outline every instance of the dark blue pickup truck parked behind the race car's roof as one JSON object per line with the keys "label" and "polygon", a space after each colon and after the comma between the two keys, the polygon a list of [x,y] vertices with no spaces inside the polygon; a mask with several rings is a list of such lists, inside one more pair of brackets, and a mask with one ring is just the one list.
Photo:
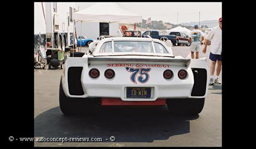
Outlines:
{"label": "dark blue pickup truck parked behind the race car's roof", "polygon": [[177,37],[175,35],[159,35],[159,31],[145,31],[142,37],[147,38],[151,36],[151,38],[163,39],[164,37],[168,38],[168,40],[172,41],[172,44],[175,45],[177,42]]}

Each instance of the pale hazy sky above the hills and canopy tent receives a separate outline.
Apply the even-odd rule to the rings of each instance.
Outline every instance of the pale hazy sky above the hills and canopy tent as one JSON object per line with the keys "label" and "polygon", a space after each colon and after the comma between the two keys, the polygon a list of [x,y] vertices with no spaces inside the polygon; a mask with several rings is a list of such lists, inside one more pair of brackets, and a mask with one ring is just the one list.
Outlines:
{"label": "pale hazy sky above the hills and canopy tent", "polygon": [[[95,3],[76,3],[83,10]],[[172,24],[183,22],[218,20],[221,16],[221,3],[118,3],[133,13],[142,15],[144,20],[163,20]],[[179,15],[178,15],[179,14]]]}

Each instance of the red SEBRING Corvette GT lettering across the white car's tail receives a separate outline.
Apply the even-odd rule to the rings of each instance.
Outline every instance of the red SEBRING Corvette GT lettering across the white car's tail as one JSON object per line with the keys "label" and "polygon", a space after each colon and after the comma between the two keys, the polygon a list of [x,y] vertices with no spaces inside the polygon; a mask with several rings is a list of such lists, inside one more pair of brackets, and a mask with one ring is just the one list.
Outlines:
{"label": "red SEBRING Corvette GT lettering across the white car's tail", "polygon": [[108,64],[108,67],[159,67],[170,68],[170,65],[161,64]]}

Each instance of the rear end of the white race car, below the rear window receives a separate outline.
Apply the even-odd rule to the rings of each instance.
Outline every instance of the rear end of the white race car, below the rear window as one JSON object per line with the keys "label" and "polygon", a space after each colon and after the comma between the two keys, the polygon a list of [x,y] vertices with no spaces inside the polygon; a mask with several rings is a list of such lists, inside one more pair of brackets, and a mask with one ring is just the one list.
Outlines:
{"label": "rear end of the white race car, below the rear window", "polygon": [[[196,110],[182,111],[200,113],[208,85],[205,59],[68,58],[61,78],[64,98],[70,101],[66,109],[60,104],[63,113],[70,113],[67,109],[77,99],[90,100],[90,104],[95,99],[101,106],[164,106],[167,103],[172,113],[177,111],[172,110],[177,107],[175,104],[183,102],[184,107],[187,102],[195,101],[200,102]],[[193,107],[193,103],[189,105]]]}

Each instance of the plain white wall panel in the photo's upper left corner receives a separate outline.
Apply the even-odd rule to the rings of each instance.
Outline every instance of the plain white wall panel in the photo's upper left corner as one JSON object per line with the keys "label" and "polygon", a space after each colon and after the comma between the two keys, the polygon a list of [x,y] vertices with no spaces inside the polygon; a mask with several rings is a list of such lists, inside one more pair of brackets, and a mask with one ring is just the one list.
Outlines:
{"label": "plain white wall panel in the photo's upper left corner", "polygon": [[[45,3],[43,3],[45,11]],[[44,20],[44,13],[42,9],[42,3],[34,3],[34,34],[45,34],[46,26]]]}

